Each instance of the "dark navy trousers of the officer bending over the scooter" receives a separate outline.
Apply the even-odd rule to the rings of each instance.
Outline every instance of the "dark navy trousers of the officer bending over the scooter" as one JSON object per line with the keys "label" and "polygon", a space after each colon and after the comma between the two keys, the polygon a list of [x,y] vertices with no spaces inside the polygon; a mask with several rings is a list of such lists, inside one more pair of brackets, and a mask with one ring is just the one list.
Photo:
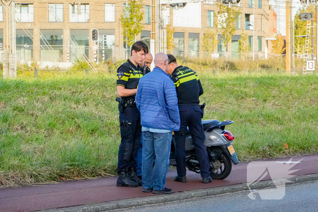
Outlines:
{"label": "dark navy trousers of the officer bending over the scooter", "polygon": [[[185,132],[189,127],[192,141],[196,150],[197,160],[200,163],[201,177],[210,176],[210,162],[206,147],[204,146],[205,134],[201,121],[200,106],[179,105],[180,130],[175,132],[176,142],[176,167],[179,176],[186,175],[185,158]],[[183,135],[181,135],[183,134]]]}

